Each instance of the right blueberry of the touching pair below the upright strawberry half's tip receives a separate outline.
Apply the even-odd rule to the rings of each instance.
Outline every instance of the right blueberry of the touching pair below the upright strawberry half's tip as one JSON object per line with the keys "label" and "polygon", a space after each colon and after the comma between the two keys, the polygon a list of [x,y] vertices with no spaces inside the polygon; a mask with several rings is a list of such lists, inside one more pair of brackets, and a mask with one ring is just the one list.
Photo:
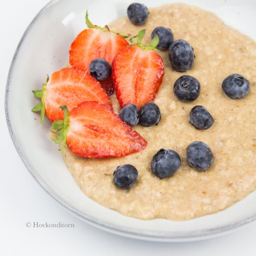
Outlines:
{"label": "right blueberry of the touching pair below the upright strawberry half's tip", "polygon": [[161,111],[153,102],[144,104],[140,109],[140,124],[150,127],[159,123],[161,119]]}

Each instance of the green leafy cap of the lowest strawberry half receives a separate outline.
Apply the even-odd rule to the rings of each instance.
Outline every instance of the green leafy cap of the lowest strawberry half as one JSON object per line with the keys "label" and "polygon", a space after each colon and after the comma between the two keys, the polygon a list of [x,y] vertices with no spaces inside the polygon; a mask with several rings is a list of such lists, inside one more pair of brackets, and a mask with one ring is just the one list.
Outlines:
{"label": "green leafy cap of the lowest strawberry half", "polygon": [[52,141],[56,144],[62,144],[59,150],[66,148],[67,132],[69,130],[69,116],[67,106],[60,107],[64,111],[64,120],[56,120],[52,124],[52,132],[57,135]]}

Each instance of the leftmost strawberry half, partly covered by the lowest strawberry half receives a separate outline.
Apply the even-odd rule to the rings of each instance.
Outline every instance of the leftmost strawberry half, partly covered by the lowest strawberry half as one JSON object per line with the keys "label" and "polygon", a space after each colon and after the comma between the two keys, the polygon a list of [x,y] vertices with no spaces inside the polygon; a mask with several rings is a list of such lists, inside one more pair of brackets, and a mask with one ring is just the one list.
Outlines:
{"label": "leftmost strawberry half, partly covered by the lowest strawberry half", "polygon": [[97,101],[112,108],[108,95],[100,83],[87,72],[78,68],[62,68],[47,77],[42,90],[33,91],[34,96],[41,98],[32,111],[41,111],[41,120],[46,113],[50,121],[63,120],[64,113],[60,106],[66,105],[69,110],[83,101]]}

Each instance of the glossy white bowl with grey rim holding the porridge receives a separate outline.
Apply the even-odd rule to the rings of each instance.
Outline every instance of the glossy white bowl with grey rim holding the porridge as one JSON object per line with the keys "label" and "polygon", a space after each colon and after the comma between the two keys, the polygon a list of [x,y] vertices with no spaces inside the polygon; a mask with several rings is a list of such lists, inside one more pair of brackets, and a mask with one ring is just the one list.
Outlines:
{"label": "glossy white bowl with grey rim holding the porridge", "polygon": [[[256,192],[217,214],[185,222],[163,219],[142,221],[122,216],[83,195],[73,180],[56,145],[47,133],[50,122],[39,125],[31,112],[38,102],[31,90],[41,88],[68,60],[74,37],[85,26],[85,10],[92,20],[105,25],[126,15],[130,1],[53,0],[36,15],[22,36],[10,67],[6,88],[6,117],[13,143],[27,169],[39,184],[65,209],[101,229],[145,240],[191,241],[218,236],[256,219]],[[148,7],[168,0],[141,1]],[[216,13],[227,24],[256,40],[256,2],[254,0],[187,0]],[[107,11],[106,11],[107,10]],[[36,120],[34,119],[36,118]]]}

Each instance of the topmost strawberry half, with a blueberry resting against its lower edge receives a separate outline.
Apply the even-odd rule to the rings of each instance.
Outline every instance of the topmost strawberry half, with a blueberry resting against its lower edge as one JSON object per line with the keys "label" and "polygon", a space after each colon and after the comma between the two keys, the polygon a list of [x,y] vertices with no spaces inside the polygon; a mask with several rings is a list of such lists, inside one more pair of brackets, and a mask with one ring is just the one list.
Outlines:
{"label": "topmost strawberry half, with a blueberry resting against its lower edge", "polygon": [[[70,47],[69,63],[72,67],[78,67],[89,72],[89,65],[94,59],[102,58],[111,65],[116,54],[128,46],[129,43],[124,39],[128,36],[121,36],[117,32],[109,30],[108,26],[93,25],[88,19],[88,12],[86,12],[86,24],[89,28],[78,34]],[[101,82],[103,88],[104,85],[106,88],[106,84],[108,84],[108,95],[114,92],[112,78],[109,80],[111,82]]]}

